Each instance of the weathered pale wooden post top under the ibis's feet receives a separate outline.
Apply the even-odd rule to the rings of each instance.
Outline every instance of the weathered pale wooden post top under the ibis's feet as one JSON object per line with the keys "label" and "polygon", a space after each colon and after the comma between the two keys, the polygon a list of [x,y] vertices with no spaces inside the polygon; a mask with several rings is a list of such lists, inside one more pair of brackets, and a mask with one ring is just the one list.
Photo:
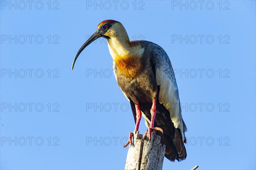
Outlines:
{"label": "weathered pale wooden post top under the ibis's feet", "polygon": [[148,134],[145,140],[142,135],[133,136],[133,144],[129,145],[125,170],[162,170],[166,146],[161,144],[161,137],[152,130],[151,140]]}

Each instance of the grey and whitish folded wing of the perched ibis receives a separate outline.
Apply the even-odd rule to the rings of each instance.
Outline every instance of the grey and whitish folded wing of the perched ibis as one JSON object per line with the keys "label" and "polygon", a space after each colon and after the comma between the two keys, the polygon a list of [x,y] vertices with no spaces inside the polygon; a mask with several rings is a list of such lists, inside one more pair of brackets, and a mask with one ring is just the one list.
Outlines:
{"label": "grey and whitish folded wing of the perched ibis", "polygon": [[180,129],[182,139],[185,142],[184,132],[187,128],[181,115],[179,91],[171,61],[163,48],[153,42],[151,43],[151,49],[153,49],[151,56],[155,64],[156,82],[160,86],[159,102],[169,111],[174,127]]}

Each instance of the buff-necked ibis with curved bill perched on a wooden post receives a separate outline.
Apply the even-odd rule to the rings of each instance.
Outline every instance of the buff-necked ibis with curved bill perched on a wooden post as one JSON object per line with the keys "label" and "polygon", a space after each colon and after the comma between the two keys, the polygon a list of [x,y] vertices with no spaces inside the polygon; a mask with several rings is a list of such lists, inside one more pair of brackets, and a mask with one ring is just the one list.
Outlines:
{"label": "buff-necked ibis with curved bill perched on a wooden post", "polygon": [[[79,54],[99,37],[108,39],[117,84],[131,103],[135,132],[141,116],[145,118],[149,139],[156,129],[161,143],[166,145],[165,156],[171,161],[186,159],[186,125],[181,116],[180,99],[175,74],[166,52],[149,41],[130,41],[125,28],[115,20],[99,23],[97,31],[81,46]],[[133,133],[129,134],[127,146]]]}

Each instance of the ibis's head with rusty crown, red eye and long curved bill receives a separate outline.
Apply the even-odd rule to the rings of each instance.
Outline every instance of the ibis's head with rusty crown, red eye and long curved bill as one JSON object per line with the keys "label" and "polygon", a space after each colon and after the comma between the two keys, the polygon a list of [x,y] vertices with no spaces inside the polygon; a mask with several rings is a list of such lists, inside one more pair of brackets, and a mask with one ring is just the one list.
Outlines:
{"label": "ibis's head with rusty crown, red eye and long curved bill", "polygon": [[[102,21],[101,23],[99,23],[99,26],[97,27],[96,32],[86,42],[84,42],[84,44],[81,46],[81,48],[77,52],[76,57],[72,64],[72,70],[74,68],[77,57],[84,50],[85,47],[87,47],[90,43],[92,43],[94,40],[98,39],[99,37],[104,37],[107,39],[116,37],[120,31],[121,32],[125,31],[125,28],[118,21],[105,20],[105,21]],[[125,31],[125,33],[126,33],[126,31]]]}

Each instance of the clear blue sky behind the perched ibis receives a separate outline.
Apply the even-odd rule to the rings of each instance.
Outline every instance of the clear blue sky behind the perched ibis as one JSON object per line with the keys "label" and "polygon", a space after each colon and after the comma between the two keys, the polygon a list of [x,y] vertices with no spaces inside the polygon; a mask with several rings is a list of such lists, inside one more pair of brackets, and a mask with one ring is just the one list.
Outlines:
{"label": "clear blue sky behind the perched ibis", "polygon": [[106,19],[163,47],[175,69],[188,156],[163,169],[256,169],[255,1],[0,3],[0,169],[124,169],[134,118],[106,41],[71,71]]}

